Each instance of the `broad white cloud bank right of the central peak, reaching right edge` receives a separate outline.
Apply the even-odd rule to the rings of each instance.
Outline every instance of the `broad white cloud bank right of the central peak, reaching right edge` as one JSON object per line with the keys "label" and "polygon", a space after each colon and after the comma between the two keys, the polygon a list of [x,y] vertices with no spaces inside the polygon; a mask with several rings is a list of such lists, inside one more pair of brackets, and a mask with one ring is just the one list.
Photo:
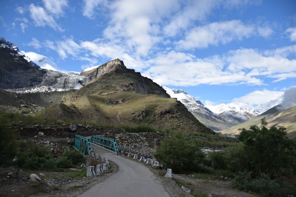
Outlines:
{"label": "broad white cloud bank right of the central peak, reaching right edge", "polygon": [[265,77],[275,78],[275,81],[295,77],[296,60],[287,58],[295,51],[296,45],[270,51],[242,48],[203,59],[170,51],[150,59],[150,68],[144,75],[164,85],[264,85]]}

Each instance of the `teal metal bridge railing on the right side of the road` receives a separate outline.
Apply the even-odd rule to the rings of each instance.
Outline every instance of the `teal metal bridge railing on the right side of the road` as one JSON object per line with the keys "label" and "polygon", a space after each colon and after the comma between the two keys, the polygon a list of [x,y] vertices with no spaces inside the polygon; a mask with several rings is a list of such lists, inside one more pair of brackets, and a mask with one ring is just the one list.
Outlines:
{"label": "teal metal bridge railing on the right side of the road", "polygon": [[98,146],[101,146],[105,149],[111,150],[112,152],[115,152],[116,154],[119,154],[117,142],[115,139],[106,138],[103,136],[91,136],[91,143],[94,143]]}

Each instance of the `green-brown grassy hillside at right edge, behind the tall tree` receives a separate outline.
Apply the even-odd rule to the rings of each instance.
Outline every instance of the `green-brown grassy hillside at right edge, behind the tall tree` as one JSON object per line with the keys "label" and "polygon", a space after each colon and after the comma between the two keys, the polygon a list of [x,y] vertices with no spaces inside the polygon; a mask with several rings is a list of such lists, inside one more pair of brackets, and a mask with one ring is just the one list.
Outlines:
{"label": "green-brown grassy hillside at right edge, behind the tall tree", "polygon": [[251,125],[260,125],[261,119],[266,118],[268,122],[268,127],[278,124],[287,128],[287,133],[289,137],[296,136],[296,107],[281,111],[277,107],[273,107],[266,112],[249,119],[246,122],[235,125],[229,129],[220,131],[222,134],[238,134],[239,128],[250,128]]}

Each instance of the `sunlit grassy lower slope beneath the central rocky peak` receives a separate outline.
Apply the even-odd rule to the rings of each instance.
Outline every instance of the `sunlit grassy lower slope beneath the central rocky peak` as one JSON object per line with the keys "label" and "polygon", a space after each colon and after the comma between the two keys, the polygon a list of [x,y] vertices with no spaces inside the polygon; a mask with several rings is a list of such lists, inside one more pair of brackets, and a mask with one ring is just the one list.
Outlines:
{"label": "sunlit grassy lower slope beneath the central rocky peak", "polygon": [[42,110],[39,115],[132,126],[148,124],[161,129],[211,133],[177,100],[131,91],[107,95],[86,94],[70,102],[52,105]]}

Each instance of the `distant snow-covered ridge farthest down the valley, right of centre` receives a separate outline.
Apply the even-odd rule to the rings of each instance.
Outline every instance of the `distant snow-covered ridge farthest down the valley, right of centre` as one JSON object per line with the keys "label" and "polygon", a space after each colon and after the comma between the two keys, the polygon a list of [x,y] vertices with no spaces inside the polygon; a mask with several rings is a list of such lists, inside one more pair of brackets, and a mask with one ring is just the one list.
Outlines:
{"label": "distant snow-covered ridge farthest down the valley, right of centre", "polygon": [[226,111],[236,112],[246,117],[248,116],[254,117],[260,114],[260,112],[254,110],[253,108],[242,108],[238,105],[233,105],[233,104],[226,105],[222,103],[220,105],[206,105],[206,107],[209,108],[213,113],[218,115]]}

